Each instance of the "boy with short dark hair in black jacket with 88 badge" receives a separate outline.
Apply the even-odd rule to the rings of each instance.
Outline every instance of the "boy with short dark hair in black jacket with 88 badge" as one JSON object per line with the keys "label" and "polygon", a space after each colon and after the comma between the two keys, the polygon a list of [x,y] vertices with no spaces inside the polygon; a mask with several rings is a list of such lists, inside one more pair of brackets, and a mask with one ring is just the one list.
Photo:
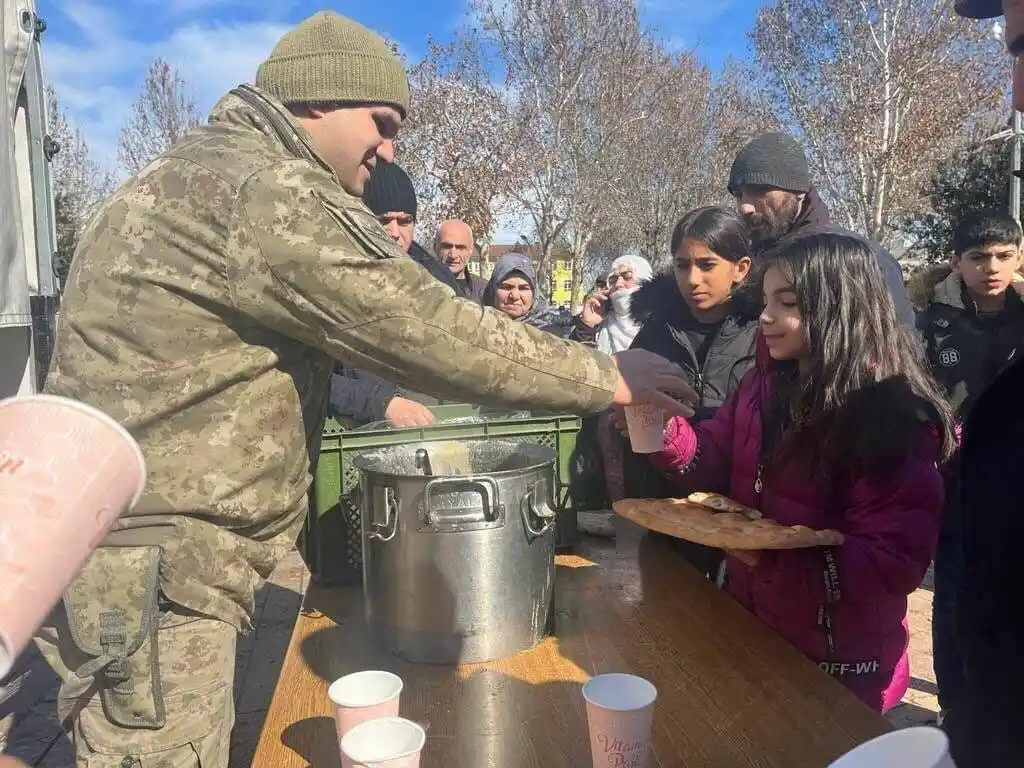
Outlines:
{"label": "boy with short dark hair in black jacket with 88 badge", "polygon": [[[964,423],[978,397],[1024,347],[1024,302],[1013,288],[1020,266],[1021,227],[1004,211],[982,211],[953,232],[951,270],[929,276],[930,291],[918,326],[935,378]],[[1013,482],[1014,478],[1006,478]],[[964,702],[964,659],[953,629],[964,571],[958,457],[947,471],[947,505],[935,556],[932,641],[940,723]]]}

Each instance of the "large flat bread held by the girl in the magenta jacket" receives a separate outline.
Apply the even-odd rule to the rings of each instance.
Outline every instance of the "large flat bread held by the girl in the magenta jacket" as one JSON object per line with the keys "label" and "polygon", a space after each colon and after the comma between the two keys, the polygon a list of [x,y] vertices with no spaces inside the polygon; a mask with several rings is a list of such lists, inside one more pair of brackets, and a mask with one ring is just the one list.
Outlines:
{"label": "large flat bread held by the girl in the magenta jacket", "polygon": [[685,499],[623,499],[615,513],[650,530],[718,549],[804,549],[843,543],[838,530],[751,520],[736,512],[713,512]]}

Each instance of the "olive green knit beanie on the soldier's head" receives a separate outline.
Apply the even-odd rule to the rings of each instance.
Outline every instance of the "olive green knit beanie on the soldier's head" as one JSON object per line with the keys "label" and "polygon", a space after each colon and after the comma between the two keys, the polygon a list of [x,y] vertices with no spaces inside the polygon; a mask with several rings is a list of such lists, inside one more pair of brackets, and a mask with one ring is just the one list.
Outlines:
{"label": "olive green knit beanie on the soldier's head", "polygon": [[354,102],[409,111],[409,78],[377,33],[322,10],[286,34],[259,66],[256,85],[285,103]]}

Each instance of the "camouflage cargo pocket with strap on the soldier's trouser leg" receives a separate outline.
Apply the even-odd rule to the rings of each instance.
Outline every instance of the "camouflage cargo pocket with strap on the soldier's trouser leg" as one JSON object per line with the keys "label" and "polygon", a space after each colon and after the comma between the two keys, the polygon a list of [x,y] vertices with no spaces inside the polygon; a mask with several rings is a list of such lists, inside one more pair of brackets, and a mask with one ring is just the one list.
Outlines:
{"label": "camouflage cargo pocket with strap on the soldier's trouser leg", "polygon": [[126,728],[162,728],[166,722],[159,583],[159,547],[97,549],[63,599],[71,639],[90,656],[75,673],[95,676],[106,717]]}

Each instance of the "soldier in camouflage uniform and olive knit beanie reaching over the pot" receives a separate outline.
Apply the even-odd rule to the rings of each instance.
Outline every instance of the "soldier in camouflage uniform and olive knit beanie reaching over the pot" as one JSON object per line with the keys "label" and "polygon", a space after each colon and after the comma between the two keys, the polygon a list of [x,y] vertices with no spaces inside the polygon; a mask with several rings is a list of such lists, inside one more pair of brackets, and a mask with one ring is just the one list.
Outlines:
{"label": "soldier in camouflage uniform and olive knit beanie reaching over the pot", "polygon": [[80,766],[227,765],[236,636],[306,514],[335,359],[513,407],[686,393],[659,357],[560,341],[406,258],[359,196],[408,105],[383,40],[317,13],[82,236],[47,390],[122,422],[148,484],[38,640]]}

